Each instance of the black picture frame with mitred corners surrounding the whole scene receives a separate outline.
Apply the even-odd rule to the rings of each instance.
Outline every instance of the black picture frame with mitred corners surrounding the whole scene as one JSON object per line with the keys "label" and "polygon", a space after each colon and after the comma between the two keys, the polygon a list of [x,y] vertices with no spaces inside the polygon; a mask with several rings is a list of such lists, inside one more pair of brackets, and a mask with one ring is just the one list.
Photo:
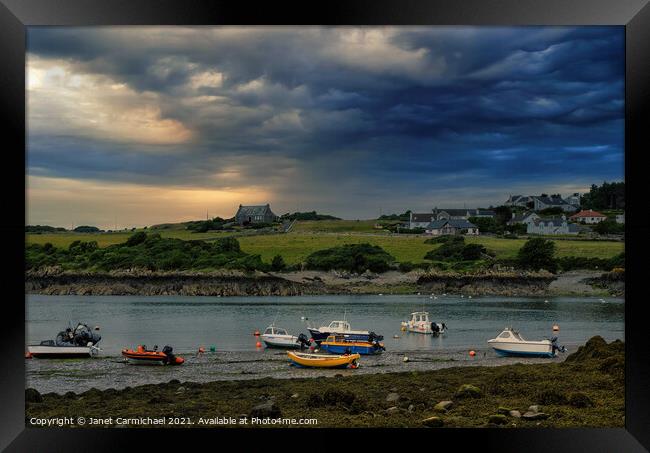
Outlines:
{"label": "black picture frame with mitred corners surrounding the whole scene", "polygon": [[[189,448],[187,440],[249,449],[268,433],[282,448],[301,448],[283,442],[286,431],[192,430],[156,436],[152,430],[74,430],[25,427],[24,408],[24,216],[25,198],[25,37],[36,25],[621,25],[626,35],[625,179],[626,179],[626,409],[625,429],[476,429],[476,430],[366,430],[366,437],[404,436],[426,442],[431,449],[442,442],[467,443],[499,451],[645,451],[650,449],[650,339],[643,314],[648,305],[643,282],[647,279],[650,222],[648,189],[648,99],[650,98],[650,6],[647,0],[347,0],[330,2],[169,1],[169,0],[0,0],[0,124],[5,144],[5,172],[0,178],[5,219],[3,325],[5,348],[0,372],[0,448],[8,451],[126,450],[126,442],[150,438],[154,444]],[[22,167],[22,169],[21,169]],[[9,208],[7,210],[7,208]],[[20,339],[20,340],[18,340]],[[564,383],[567,385],[567,383]],[[570,385],[570,384],[569,384]],[[157,431],[158,432],[158,431]],[[180,433],[180,432],[179,432]],[[328,432],[312,440],[319,445]],[[303,431],[304,434],[304,431]],[[355,434],[341,448],[369,448]],[[293,434],[292,434],[293,436]],[[311,437],[311,436],[310,436]],[[321,440],[322,439],[322,440]],[[148,441],[148,440],[147,440]],[[269,441],[270,442],[270,441]],[[277,444],[269,444],[275,445]],[[310,448],[304,444],[303,448]],[[324,447],[323,447],[324,448]],[[409,448],[409,447],[405,447]],[[453,448],[453,447],[445,447]]]}

